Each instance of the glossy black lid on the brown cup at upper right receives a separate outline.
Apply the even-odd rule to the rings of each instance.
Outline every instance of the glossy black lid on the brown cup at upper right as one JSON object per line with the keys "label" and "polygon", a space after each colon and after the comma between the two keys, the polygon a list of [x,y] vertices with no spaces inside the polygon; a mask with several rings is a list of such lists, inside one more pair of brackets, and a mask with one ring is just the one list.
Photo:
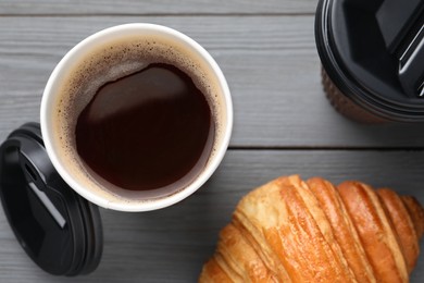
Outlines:
{"label": "glossy black lid on the brown cup at upper right", "polygon": [[315,38],[341,93],[385,119],[424,122],[424,0],[320,0]]}

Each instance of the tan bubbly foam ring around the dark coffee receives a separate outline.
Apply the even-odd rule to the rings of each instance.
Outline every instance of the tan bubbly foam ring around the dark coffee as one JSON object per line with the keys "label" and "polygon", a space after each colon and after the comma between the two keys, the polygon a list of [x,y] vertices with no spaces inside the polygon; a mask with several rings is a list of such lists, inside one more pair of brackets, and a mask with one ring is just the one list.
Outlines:
{"label": "tan bubbly foam ring around the dark coffee", "polygon": [[[223,139],[225,106],[219,78],[197,53],[187,47],[160,36],[127,37],[103,44],[88,51],[63,79],[54,106],[54,144],[66,170],[87,189],[111,201],[142,200],[170,195],[169,189],[132,192],[119,188],[90,170],[76,151],[75,127],[77,119],[97,90],[112,82],[138,72],[150,63],[167,63],[188,74],[195,85],[205,95],[215,123],[214,145],[208,163],[214,158]],[[136,146],[136,145],[135,145]],[[208,164],[207,164],[208,167]],[[177,192],[179,192],[179,188]],[[159,192],[161,190],[161,192]],[[171,194],[177,193],[175,189]]]}

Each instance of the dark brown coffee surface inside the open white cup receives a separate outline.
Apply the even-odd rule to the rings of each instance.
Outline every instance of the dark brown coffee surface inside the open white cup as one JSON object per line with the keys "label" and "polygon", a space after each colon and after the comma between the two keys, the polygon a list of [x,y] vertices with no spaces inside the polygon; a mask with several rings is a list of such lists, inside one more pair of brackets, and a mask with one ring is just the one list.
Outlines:
{"label": "dark brown coffee surface inside the open white cup", "polygon": [[91,170],[119,187],[146,190],[190,183],[211,153],[214,123],[187,74],[150,64],[103,85],[80,113],[75,134]]}

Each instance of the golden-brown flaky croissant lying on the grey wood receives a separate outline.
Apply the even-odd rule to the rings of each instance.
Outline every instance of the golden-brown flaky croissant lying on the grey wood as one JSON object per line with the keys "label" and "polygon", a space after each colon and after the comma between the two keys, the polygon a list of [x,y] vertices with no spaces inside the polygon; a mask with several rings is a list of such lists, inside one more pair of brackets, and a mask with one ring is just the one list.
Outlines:
{"label": "golden-brown flaky croissant lying on the grey wood", "polygon": [[240,200],[199,282],[408,282],[423,232],[413,197],[284,176]]}

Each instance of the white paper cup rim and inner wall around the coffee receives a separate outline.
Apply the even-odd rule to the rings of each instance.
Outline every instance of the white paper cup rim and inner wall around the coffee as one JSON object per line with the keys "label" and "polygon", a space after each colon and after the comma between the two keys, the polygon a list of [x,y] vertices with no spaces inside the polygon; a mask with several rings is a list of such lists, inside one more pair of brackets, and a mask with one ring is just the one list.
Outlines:
{"label": "white paper cup rim and inner wall around the coffee", "polygon": [[[197,62],[204,71],[214,87],[214,100],[217,108],[215,116],[219,133],[215,135],[214,149],[200,174],[187,186],[172,193],[152,190],[127,190],[113,186],[108,182],[97,180],[92,172],[87,171],[84,162],[72,149],[64,153],[64,142],[58,135],[58,111],[64,107],[59,100],[63,99],[63,87],[68,84],[75,70],[86,64],[86,59],[100,47],[110,46],[120,40],[137,40],[154,37],[161,44],[175,46],[184,51],[188,59]],[[159,51],[158,51],[159,52]],[[114,67],[111,65],[110,67]],[[107,82],[104,82],[107,83]],[[80,91],[80,96],[84,91]],[[83,99],[84,100],[84,99]],[[214,103],[215,103],[214,102]],[[66,106],[65,106],[66,107]],[[76,45],[53,70],[41,101],[41,132],[45,146],[51,162],[62,179],[89,201],[108,209],[121,211],[148,211],[176,204],[201,187],[221,163],[230,138],[233,127],[233,106],[226,79],[213,58],[191,38],[172,28],[152,24],[125,24],[96,33]],[[60,120],[60,119],[59,119]],[[76,122],[75,122],[76,123]],[[61,137],[63,138],[63,136]],[[75,144],[75,136],[67,137],[68,144]],[[172,158],[172,157],[170,157]]]}

